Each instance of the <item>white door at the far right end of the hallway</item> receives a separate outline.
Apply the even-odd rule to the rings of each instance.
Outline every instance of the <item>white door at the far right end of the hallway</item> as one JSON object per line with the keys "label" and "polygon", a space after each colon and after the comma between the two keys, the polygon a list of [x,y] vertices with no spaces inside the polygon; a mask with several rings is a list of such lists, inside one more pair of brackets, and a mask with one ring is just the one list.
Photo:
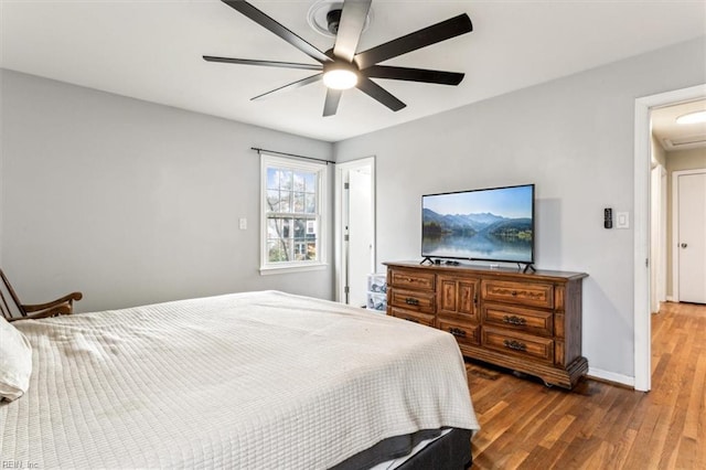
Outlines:
{"label": "white door at the far right end of the hallway", "polygon": [[678,299],[706,303],[706,171],[677,175]]}

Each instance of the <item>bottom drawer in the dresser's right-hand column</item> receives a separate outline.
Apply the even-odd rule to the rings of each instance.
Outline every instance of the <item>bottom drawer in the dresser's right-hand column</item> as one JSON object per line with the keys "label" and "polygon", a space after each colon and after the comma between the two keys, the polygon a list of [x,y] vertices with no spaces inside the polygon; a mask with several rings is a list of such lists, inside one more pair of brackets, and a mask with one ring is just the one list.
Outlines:
{"label": "bottom drawer in the dresser's right-hand column", "polygon": [[548,364],[554,362],[554,340],[552,339],[491,327],[483,327],[481,337],[482,345],[489,350],[517,357],[532,357]]}

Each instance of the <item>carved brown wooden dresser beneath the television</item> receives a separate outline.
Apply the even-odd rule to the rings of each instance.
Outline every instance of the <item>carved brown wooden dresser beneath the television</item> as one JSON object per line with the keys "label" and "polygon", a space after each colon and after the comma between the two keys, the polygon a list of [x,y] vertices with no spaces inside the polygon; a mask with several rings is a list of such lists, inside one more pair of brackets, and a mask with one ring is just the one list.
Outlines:
{"label": "carved brown wooden dresser beneath the television", "polygon": [[571,388],[581,356],[585,273],[385,263],[387,314],[453,334],[464,356]]}

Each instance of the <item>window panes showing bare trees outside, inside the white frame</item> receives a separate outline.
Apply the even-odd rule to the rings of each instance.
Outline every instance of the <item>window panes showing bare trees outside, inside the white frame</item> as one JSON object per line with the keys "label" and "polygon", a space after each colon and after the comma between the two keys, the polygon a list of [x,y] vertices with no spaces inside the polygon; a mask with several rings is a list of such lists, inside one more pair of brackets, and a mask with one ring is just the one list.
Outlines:
{"label": "window panes showing bare trees outside, inside the white frame", "polygon": [[317,260],[315,171],[267,169],[268,263]]}

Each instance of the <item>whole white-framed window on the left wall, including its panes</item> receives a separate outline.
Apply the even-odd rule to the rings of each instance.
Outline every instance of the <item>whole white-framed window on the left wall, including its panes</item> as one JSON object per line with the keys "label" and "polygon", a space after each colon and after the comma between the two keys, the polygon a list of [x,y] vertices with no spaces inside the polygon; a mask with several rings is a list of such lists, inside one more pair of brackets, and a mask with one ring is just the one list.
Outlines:
{"label": "whole white-framed window on the left wall, including its panes", "polygon": [[261,156],[260,273],[324,266],[325,175],[325,164]]}

